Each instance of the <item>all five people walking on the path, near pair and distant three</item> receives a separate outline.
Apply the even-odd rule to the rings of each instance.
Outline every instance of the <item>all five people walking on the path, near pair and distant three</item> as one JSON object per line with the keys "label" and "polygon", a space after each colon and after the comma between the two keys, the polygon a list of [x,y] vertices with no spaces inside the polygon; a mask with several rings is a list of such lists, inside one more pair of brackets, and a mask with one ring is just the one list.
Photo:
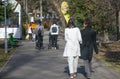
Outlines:
{"label": "all five people walking on the path, near pair and distant three", "polygon": [[[96,43],[96,32],[91,28],[90,19],[85,19],[83,23],[84,29],[79,29],[75,26],[72,19],[69,19],[68,25],[64,31],[65,48],[63,56],[67,57],[68,68],[70,78],[73,79],[77,76],[78,59],[81,58],[84,61],[86,78],[91,77],[91,61],[93,51],[98,54],[98,48]],[[30,40],[32,40],[32,31],[29,30]],[[59,35],[59,26],[56,22],[50,27],[49,30],[49,46],[54,49],[58,49],[57,39]],[[37,23],[35,29],[36,48],[43,47],[44,27],[41,21]]]}

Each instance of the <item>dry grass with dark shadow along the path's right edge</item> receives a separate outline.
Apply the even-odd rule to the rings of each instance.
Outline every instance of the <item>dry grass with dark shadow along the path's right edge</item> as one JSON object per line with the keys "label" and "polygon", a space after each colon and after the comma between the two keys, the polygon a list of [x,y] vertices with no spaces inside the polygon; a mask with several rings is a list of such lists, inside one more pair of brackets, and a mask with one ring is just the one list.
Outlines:
{"label": "dry grass with dark shadow along the path's right edge", "polygon": [[120,72],[120,42],[103,43],[99,50],[99,54],[94,56]]}

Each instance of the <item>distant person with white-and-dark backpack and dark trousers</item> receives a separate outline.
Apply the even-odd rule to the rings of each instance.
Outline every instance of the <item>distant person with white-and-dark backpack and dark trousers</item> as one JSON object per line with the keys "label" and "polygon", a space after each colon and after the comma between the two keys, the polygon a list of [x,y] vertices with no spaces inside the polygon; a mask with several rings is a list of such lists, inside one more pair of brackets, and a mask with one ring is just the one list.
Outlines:
{"label": "distant person with white-and-dark backpack and dark trousers", "polygon": [[51,25],[50,27],[50,36],[51,36],[52,47],[54,47],[55,49],[58,49],[58,44],[57,44],[58,34],[59,34],[59,27],[54,21],[53,25]]}

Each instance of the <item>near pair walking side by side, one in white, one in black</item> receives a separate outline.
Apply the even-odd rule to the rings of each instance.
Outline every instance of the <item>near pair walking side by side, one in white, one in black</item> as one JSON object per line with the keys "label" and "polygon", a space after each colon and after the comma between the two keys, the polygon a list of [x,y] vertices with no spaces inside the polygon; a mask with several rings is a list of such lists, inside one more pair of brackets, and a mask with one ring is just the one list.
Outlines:
{"label": "near pair walking side by side, one in white, one in black", "polygon": [[91,28],[90,19],[85,19],[84,29],[75,27],[72,19],[69,20],[65,28],[65,49],[63,56],[67,57],[70,78],[73,79],[77,76],[78,59],[84,61],[86,78],[91,77],[91,61],[93,50],[98,54],[96,44],[96,32]]}

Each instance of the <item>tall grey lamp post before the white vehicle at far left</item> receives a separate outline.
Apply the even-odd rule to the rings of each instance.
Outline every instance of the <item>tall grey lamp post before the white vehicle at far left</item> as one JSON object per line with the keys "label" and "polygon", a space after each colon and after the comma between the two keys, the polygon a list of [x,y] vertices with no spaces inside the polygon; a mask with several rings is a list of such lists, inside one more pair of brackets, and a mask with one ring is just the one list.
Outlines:
{"label": "tall grey lamp post before the white vehicle at far left", "polygon": [[4,18],[5,18],[5,53],[8,52],[8,44],[7,44],[7,22],[6,22],[6,6],[7,6],[7,0],[2,0],[4,1]]}

